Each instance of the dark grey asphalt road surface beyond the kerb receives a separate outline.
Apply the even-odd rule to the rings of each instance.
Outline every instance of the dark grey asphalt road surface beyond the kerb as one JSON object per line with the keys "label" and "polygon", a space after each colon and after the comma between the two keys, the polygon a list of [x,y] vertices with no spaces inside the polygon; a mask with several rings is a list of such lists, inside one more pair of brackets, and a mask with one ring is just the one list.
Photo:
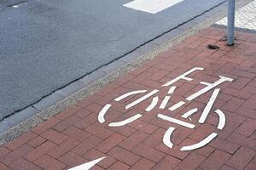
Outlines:
{"label": "dark grey asphalt road surface beyond the kerb", "polygon": [[128,2],[0,0],[0,120],[224,0],[184,0],[157,14]]}

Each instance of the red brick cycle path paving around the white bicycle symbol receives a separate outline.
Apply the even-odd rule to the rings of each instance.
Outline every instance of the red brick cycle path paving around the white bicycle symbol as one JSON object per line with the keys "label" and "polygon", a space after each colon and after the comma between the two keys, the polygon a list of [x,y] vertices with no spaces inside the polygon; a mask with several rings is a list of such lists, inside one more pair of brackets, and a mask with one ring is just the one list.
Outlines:
{"label": "red brick cycle path paving around the white bicycle symbol", "polygon": [[[210,27],[189,37],[67,111],[39,124],[19,139],[5,144],[0,148],[0,169],[61,170],[106,156],[92,169],[255,170],[256,35],[236,32],[236,45],[227,47],[220,40],[224,34],[225,30]],[[208,49],[209,43],[220,48]],[[191,73],[192,82],[176,82],[172,104],[204,87],[199,84],[201,81],[215,82],[218,76],[235,80],[219,85],[221,91],[214,105],[214,108],[224,111],[224,130],[201,149],[179,150],[184,144],[194,144],[216,131],[218,117],[214,114],[207,117],[205,124],[195,123],[196,128],[191,130],[160,120],[157,108],[145,112],[150,99],[127,112],[124,106],[140,95],[124,99],[121,103],[112,100],[132,90],[160,88],[164,82],[195,66],[204,67],[205,71]],[[160,99],[165,93],[160,92]],[[211,94],[202,95],[173,113],[162,113],[178,118],[195,107],[202,111]],[[106,115],[106,122],[101,124],[97,122],[97,114],[108,102],[114,105]],[[144,111],[140,112],[143,117],[124,127],[108,127],[109,122],[124,120],[135,111]],[[198,115],[192,116],[193,120],[199,118]],[[177,127],[172,136],[172,149],[162,142],[170,126]]]}

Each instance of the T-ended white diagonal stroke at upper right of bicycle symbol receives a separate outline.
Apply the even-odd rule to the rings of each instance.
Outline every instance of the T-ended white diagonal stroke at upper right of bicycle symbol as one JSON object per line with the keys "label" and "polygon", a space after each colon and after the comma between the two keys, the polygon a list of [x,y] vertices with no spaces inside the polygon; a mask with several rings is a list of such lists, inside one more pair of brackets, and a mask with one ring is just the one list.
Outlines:
{"label": "T-ended white diagonal stroke at upper right of bicycle symbol", "polygon": [[[198,96],[201,96],[201,94],[205,94],[207,93],[207,91],[211,90],[212,88],[217,87],[219,84],[221,84],[222,82],[232,82],[233,79],[229,78],[229,77],[221,77],[220,79],[216,82],[213,83],[209,83],[209,85],[207,85],[206,88],[202,88],[200,91],[196,92],[195,94],[190,95],[187,100],[191,101],[192,99],[197,98]],[[204,84],[207,84],[207,82],[203,82]]]}

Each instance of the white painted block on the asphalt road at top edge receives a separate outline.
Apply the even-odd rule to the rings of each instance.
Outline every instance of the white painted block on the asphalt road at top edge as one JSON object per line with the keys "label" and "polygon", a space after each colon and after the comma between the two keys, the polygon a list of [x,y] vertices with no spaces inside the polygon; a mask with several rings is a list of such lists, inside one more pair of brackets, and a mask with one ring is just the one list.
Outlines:
{"label": "white painted block on the asphalt road at top edge", "polygon": [[124,6],[150,14],[156,14],[182,1],[183,0],[134,0],[131,3],[125,3]]}

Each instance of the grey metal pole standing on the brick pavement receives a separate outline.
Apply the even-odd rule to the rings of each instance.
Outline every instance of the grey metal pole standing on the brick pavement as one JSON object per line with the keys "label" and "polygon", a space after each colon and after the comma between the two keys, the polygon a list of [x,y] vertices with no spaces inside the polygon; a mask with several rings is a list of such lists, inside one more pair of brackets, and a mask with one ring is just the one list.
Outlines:
{"label": "grey metal pole standing on the brick pavement", "polygon": [[229,0],[228,4],[228,45],[234,44],[235,28],[235,0]]}

